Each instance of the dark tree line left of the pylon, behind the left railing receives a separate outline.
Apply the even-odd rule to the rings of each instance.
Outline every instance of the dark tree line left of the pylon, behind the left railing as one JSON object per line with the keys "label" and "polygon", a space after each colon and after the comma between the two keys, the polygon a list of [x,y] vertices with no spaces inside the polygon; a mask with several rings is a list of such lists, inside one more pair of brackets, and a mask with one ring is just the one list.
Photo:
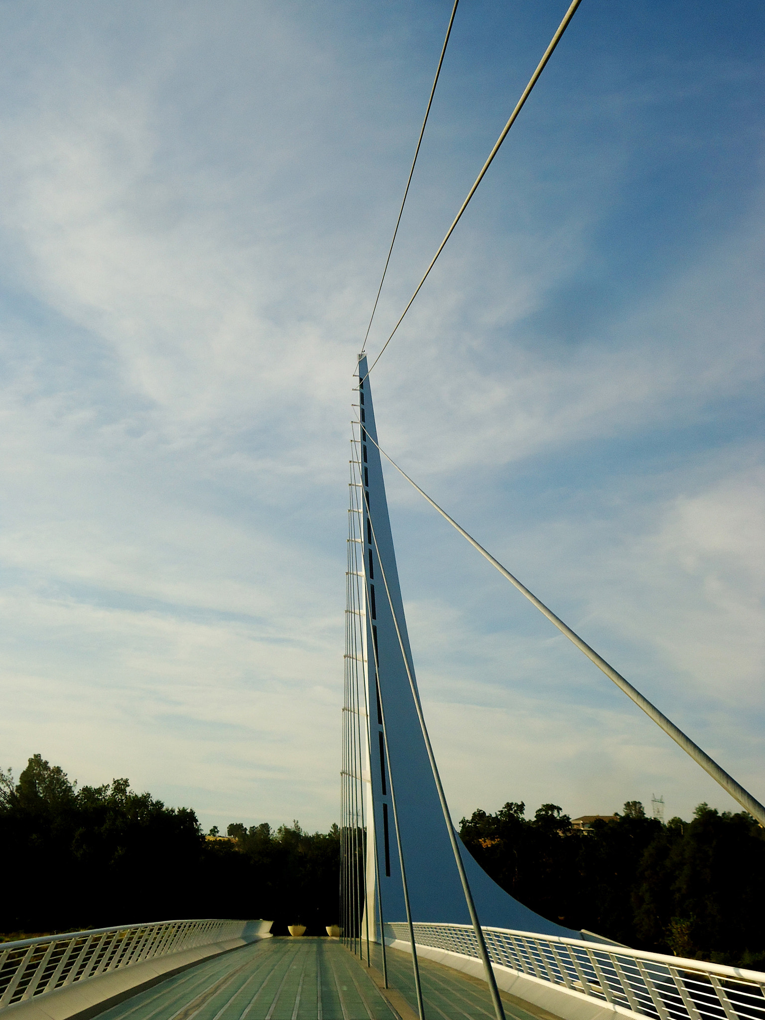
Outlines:
{"label": "dark tree line left of the pylon, behind the left railing", "polygon": [[295,822],[233,826],[207,840],[197,816],[128,779],[69,781],[40,755],[0,773],[0,931],[51,932],[192,917],[265,917],[275,933],[338,921],[340,832]]}

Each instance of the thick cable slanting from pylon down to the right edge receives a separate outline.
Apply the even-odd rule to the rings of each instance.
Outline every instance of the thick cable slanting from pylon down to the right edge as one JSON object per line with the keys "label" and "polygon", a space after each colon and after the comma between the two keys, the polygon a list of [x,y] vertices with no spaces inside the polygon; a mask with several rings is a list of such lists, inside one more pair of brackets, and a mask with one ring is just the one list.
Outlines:
{"label": "thick cable slanting from pylon down to the right edge", "polygon": [[[369,443],[374,443],[374,440],[368,432],[366,434],[366,438]],[[399,474],[402,474],[409,484],[416,489],[420,496],[427,500],[430,506],[438,510],[441,516],[445,520],[448,520],[452,527],[459,531],[463,539],[467,539],[470,545],[474,549],[477,549],[480,555],[488,559],[492,566],[499,570],[503,577],[506,577],[511,584],[514,584],[521,595],[525,596],[525,598],[528,599],[528,601],[536,606],[541,613],[547,616],[551,623],[555,624],[561,633],[565,634],[566,638],[568,638],[568,640],[572,642],[572,644],[574,644],[580,652],[584,653],[588,659],[596,664],[598,669],[604,672],[610,680],[613,680],[616,686],[623,691],[627,698],[631,699],[639,708],[643,709],[650,719],[653,719],[654,722],[660,726],[668,736],[671,736],[675,744],[679,745],[679,747],[681,747],[682,750],[690,755],[697,764],[701,765],[701,767],[708,772],[712,778],[715,779],[722,786],[722,788],[733,798],[734,801],[737,801],[738,804],[745,808],[745,810],[757,819],[760,825],[765,827],[765,807],[763,807],[759,801],[756,801],[749,790],[745,789],[741,783],[736,782],[731,775],[728,775],[728,773],[721,768],[713,758],[710,758],[705,751],[702,751],[698,744],[695,744],[678,726],[675,726],[671,719],[668,719],[663,712],[660,712],[659,709],[648,700],[648,698],[642,695],[636,687],[633,687],[629,680],[625,680],[621,673],[617,673],[613,666],[609,665],[609,663],[598,655],[598,653],[592,649],[586,642],[582,641],[575,631],[565,624],[560,617],[556,616],[552,609],[548,609],[545,603],[529,592],[525,584],[522,584],[517,577],[514,577],[509,570],[503,567],[499,560],[495,559],[491,553],[487,552],[487,550],[479,545],[471,534],[468,534],[464,527],[458,524],[453,517],[450,517],[446,510],[443,510],[435,500],[431,500],[427,493],[423,492],[417,482],[410,478],[406,471],[399,467],[396,461],[392,457],[389,457],[386,451],[382,450],[378,444],[374,443],[374,446],[377,447],[377,450],[379,450],[382,456],[393,464]]]}

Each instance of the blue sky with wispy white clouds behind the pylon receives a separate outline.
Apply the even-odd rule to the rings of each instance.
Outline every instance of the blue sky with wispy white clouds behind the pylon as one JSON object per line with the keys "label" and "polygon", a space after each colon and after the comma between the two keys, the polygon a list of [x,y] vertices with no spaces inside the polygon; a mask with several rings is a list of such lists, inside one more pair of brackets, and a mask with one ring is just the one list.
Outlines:
{"label": "blue sky with wispy white clouds behind the pylon", "polygon": [[[0,754],[338,818],[350,387],[451,5],[0,4]],[[463,0],[379,350],[565,4]],[[760,800],[759,2],[583,0],[385,448]],[[388,475],[457,817],[732,802]]]}

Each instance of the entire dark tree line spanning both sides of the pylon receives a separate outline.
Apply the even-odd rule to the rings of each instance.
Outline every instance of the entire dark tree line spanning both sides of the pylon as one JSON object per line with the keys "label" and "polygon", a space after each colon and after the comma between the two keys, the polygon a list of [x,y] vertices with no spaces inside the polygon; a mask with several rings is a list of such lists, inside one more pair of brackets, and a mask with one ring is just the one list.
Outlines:
{"label": "entire dark tree line spanning both sides of the pylon", "polygon": [[[320,934],[339,917],[341,833],[228,826],[206,839],[195,813],[128,779],[71,783],[40,755],[0,772],[0,932],[71,931],[184,917],[265,917]],[[462,819],[478,863],[521,903],[635,948],[765,969],[765,830],[700,805],[663,825],[638,802],[590,832],[554,804]]]}

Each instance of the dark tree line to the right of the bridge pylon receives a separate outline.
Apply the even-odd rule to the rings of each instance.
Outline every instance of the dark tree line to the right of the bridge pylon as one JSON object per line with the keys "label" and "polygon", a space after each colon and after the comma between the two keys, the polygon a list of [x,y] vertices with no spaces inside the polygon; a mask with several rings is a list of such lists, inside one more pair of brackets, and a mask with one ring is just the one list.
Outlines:
{"label": "dark tree line to the right of the bridge pylon", "polygon": [[635,949],[765,969],[765,830],[700,804],[663,825],[630,801],[577,831],[555,804],[463,818],[475,860],[521,903]]}

